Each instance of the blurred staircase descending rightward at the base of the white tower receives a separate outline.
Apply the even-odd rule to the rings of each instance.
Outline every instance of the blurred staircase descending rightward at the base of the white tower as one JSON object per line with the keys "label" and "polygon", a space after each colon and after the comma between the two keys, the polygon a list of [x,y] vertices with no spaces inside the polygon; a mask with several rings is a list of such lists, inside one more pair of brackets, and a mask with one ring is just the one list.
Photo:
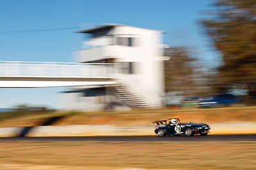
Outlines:
{"label": "blurred staircase descending rightward at the base of the white tower", "polygon": [[131,108],[161,108],[160,104],[145,96],[143,92],[136,89],[127,81],[117,80],[117,82],[114,86],[115,96],[126,106],[130,106]]}

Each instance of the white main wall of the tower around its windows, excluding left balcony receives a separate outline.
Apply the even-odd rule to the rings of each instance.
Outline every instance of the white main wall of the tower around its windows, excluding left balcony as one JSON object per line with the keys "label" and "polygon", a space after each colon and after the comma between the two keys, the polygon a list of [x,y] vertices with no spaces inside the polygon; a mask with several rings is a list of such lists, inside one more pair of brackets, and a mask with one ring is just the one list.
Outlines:
{"label": "white main wall of the tower around its windows, excluding left balcony", "polygon": [[118,48],[120,50],[118,61],[139,62],[139,74],[127,74],[125,79],[160,104],[164,94],[161,32],[134,27],[116,27],[116,29],[119,29],[117,32],[120,34],[131,34],[131,32],[138,34],[139,38],[136,47],[122,46],[123,48]]}

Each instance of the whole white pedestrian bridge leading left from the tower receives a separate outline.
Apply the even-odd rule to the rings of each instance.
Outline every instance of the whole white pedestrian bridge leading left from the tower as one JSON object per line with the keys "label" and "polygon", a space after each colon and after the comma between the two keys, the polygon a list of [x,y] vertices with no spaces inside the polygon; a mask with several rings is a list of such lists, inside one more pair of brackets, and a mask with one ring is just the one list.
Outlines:
{"label": "whole white pedestrian bridge leading left from the tower", "polygon": [[115,84],[115,64],[0,61],[0,87]]}

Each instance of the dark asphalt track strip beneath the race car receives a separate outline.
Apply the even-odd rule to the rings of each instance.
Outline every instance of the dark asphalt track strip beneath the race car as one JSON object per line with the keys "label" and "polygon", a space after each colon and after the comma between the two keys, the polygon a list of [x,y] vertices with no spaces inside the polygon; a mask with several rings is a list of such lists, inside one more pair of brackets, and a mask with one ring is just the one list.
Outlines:
{"label": "dark asphalt track strip beneath the race car", "polygon": [[203,142],[256,141],[256,134],[225,134],[208,136],[77,136],[77,137],[8,137],[0,141],[95,141],[95,142]]}

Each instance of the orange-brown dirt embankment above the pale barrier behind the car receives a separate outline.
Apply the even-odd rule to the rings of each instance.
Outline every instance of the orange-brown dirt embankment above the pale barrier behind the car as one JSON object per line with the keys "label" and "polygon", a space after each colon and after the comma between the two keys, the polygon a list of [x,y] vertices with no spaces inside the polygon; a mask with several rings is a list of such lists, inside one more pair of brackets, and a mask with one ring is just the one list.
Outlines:
{"label": "orange-brown dirt embankment above the pale barrier behind the car", "polygon": [[[256,122],[256,108],[222,108],[218,110],[156,110],[129,111],[117,113],[78,113],[60,118],[51,125],[151,125],[152,120],[166,120],[180,118],[181,122],[213,123],[213,122]],[[1,122],[0,127],[26,127],[41,125],[47,118],[44,116],[33,118],[13,118]]]}

